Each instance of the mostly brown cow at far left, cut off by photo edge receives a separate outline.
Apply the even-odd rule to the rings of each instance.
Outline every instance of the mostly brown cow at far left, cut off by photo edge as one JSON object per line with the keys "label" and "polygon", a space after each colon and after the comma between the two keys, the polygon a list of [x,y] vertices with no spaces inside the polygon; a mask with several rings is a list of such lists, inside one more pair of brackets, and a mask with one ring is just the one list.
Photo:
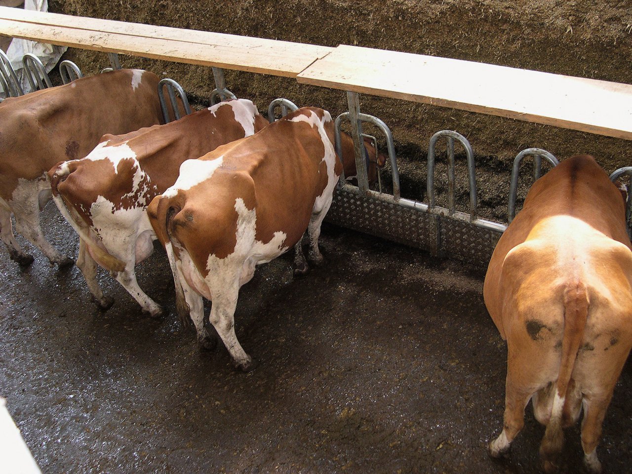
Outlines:
{"label": "mostly brown cow at far left, cut off by photo edge", "polygon": [[127,133],[162,121],[158,78],[118,70],[75,80],[0,103],[0,238],[13,260],[33,257],[16,242],[11,224],[51,263],[72,264],[44,238],[40,209],[51,197],[46,173],[55,163],[85,156],[105,133]]}

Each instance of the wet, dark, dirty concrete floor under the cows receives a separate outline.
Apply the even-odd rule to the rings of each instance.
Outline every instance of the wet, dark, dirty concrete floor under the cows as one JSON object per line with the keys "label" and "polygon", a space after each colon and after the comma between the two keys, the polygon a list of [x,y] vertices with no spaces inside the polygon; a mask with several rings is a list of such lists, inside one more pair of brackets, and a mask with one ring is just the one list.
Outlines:
{"label": "wet, dark, dirty concrete floor under the cows", "polygon": [[[76,257],[54,207],[51,241]],[[171,314],[143,317],[105,273],[99,312],[76,267],[37,250],[0,255],[0,395],[44,473],[531,473],[544,428],[526,411],[511,457],[501,430],[506,348],[483,305],[484,269],[325,224],[325,263],[293,279],[291,258],[240,293],[238,338],[260,362],[236,372],[200,353],[174,315],[164,252],[139,281]],[[208,309],[208,306],[207,306]],[[628,362],[604,423],[609,473],[632,465]],[[577,427],[562,472],[581,471]],[[1,471],[1,468],[0,468]]]}

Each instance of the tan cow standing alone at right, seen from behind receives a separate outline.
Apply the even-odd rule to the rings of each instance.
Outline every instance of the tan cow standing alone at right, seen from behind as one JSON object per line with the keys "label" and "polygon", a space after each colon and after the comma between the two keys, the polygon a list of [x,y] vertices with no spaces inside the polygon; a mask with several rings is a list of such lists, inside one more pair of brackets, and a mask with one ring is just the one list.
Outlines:
{"label": "tan cow standing alone at right, seen from behind", "polygon": [[619,190],[588,155],[536,181],[496,246],[485,305],[507,340],[504,427],[492,456],[509,450],[533,397],[546,471],[556,470],[562,428],[580,416],[585,464],[632,346],[632,251]]}

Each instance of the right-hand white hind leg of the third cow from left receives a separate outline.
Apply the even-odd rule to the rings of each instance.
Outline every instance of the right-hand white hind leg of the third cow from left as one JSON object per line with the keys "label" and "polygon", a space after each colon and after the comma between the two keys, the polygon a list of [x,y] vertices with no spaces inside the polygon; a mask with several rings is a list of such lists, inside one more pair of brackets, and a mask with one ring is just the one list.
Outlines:
{"label": "right-hand white hind leg of the third cow from left", "polygon": [[213,296],[209,320],[224,342],[224,346],[228,349],[231,358],[233,358],[235,367],[240,368],[243,372],[248,372],[256,367],[256,363],[241,347],[235,335],[234,327],[234,312],[239,296],[240,274],[236,277],[231,277],[228,280],[228,284],[226,284],[226,281],[219,281],[220,278],[214,278],[216,280],[214,283],[216,284],[209,285]]}

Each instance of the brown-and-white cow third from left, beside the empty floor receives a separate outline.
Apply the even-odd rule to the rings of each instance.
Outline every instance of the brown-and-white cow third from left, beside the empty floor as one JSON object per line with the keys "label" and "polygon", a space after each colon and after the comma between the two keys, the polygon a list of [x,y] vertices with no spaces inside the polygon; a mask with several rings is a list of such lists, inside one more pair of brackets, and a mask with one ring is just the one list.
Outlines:
{"label": "brown-and-white cow third from left, beside the empty floor", "polygon": [[202,296],[212,300],[210,322],[241,370],[253,362],[235,336],[234,311],[255,266],[300,242],[306,229],[310,255],[322,260],[320,224],[342,168],[333,143],[329,112],[298,109],[252,137],[183,162],[175,185],[149,205],[180,317],[190,317],[198,343],[209,344]]}

